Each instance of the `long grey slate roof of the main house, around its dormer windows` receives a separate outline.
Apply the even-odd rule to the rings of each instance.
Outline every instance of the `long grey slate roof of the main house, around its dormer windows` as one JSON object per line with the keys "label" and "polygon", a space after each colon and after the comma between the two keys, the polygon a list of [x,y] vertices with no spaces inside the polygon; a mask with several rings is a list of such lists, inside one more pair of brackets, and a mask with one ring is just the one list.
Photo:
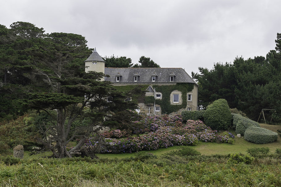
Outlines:
{"label": "long grey slate roof of the main house, around its dormer windows", "polygon": [[[116,82],[116,75],[121,74],[120,81]],[[182,68],[115,68],[105,67],[104,74],[106,81],[111,83],[171,83],[170,74],[174,73],[173,83],[195,83],[197,84],[184,69]],[[139,75],[138,81],[134,82],[134,75]],[[158,75],[156,81],[152,82],[151,75]]]}

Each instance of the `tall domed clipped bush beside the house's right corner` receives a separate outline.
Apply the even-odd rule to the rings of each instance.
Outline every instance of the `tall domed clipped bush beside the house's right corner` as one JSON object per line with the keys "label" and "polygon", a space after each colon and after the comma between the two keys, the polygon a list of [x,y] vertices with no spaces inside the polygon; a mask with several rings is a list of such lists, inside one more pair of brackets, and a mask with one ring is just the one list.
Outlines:
{"label": "tall domed clipped bush beside the house's right corner", "polygon": [[213,130],[228,129],[232,115],[225,99],[219,99],[208,105],[203,113],[205,124]]}

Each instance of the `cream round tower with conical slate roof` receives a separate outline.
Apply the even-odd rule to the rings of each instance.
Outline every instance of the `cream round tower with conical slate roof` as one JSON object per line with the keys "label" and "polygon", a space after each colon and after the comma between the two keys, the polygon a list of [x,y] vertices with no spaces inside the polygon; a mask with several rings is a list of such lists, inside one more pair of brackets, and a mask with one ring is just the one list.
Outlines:
{"label": "cream round tower with conical slate roof", "polygon": [[[84,62],[85,62],[85,72],[96,71],[96,72],[104,73],[105,61],[98,54],[96,48],[94,48],[94,52]],[[101,81],[103,81],[103,80],[104,80],[104,78],[101,79]]]}

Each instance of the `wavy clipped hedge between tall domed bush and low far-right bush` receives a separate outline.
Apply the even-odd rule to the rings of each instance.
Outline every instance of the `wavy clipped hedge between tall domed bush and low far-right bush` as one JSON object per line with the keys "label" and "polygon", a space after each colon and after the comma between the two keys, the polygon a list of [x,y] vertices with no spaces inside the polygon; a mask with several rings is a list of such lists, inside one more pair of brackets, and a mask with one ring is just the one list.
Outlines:
{"label": "wavy clipped hedge between tall domed bush and low far-right bush", "polygon": [[233,128],[236,128],[237,134],[244,135],[245,130],[249,127],[260,127],[258,122],[245,118],[240,114],[232,114],[233,116]]}

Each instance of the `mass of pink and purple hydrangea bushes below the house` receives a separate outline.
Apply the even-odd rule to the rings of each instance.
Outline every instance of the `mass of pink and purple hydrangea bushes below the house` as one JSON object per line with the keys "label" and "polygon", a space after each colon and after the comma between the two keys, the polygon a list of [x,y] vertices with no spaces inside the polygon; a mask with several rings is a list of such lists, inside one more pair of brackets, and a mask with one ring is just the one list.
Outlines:
{"label": "mass of pink and purple hydrangea bushes below the house", "polygon": [[[133,133],[145,134],[128,137],[127,130],[117,129],[111,132],[104,132],[103,136],[105,138],[103,141],[105,144],[101,148],[101,152],[131,153],[141,150],[156,150],[173,145],[196,145],[198,140],[203,142],[234,143],[232,133],[223,132],[219,135],[200,120],[187,120],[187,124],[183,125],[180,116],[169,117],[163,115],[146,117],[135,123],[143,124],[143,128],[139,128],[141,125],[136,126]],[[128,138],[119,139],[121,137]],[[96,136],[93,136],[86,141],[85,147],[89,150],[96,149],[100,143],[99,141]]]}

